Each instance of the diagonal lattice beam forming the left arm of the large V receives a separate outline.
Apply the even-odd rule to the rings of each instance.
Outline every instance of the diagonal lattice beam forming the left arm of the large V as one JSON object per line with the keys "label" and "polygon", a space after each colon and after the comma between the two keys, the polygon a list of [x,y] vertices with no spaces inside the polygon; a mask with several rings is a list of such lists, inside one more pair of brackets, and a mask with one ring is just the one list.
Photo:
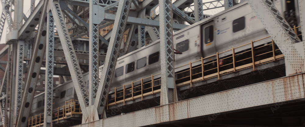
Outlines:
{"label": "diagonal lattice beam forming the left arm of the large V", "polygon": [[83,118],[85,118],[82,122],[85,122],[88,118],[86,107],[89,105],[89,94],[86,83],[83,79],[83,74],[81,73],[81,68],[79,66],[70,35],[66,28],[66,22],[60,9],[60,5],[57,1],[50,1],[49,6],[50,5],[52,6],[51,11],[58,30],[61,45],[63,46],[63,51],[65,53],[77,98],[82,109]]}

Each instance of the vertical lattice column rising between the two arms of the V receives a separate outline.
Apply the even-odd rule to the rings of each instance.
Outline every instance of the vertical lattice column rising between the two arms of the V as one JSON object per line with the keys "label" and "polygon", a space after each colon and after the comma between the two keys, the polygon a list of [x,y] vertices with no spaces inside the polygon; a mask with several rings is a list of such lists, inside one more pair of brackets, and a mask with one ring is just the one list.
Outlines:
{"label": "vertical lattice column rising between the two arms of the V", "polygon": [[[98,120],[97,109],[94,108],[96,92],[99,87],[99,1],[90,0],[89,4],[89,121]],[[88,121],[88,122],[89,122]]]}

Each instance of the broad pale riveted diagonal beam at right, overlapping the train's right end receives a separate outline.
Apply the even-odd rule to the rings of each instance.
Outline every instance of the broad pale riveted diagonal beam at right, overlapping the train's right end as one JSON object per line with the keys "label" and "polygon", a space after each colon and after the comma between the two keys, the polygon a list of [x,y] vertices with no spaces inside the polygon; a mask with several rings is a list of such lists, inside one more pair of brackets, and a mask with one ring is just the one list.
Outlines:
{"label": "broad pale riveted diagonal beam at right, overlapping the train's right end", "polygon": [[286,75],[305,71],[305,46],[271,0],[247,0],[285,56]]}

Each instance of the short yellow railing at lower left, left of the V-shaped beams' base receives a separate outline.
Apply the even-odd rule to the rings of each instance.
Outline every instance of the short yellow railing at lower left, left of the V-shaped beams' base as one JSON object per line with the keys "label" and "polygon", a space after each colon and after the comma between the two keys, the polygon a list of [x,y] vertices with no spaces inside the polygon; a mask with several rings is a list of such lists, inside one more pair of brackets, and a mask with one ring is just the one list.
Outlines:
{"label": "short yellow railing at lower left, left of the V-shaped beams' base", "polygon": [[[58,107],[52,111],[52,122],[59,123],[60,120],[66,119],[67,116],[73,114],[81,114],[81,107],[76,104],[78,100],[69,100],[65,102],[65,105]],[[28,119],[28,127],[40,127],[43,126],[44,113],[32,116]]]}

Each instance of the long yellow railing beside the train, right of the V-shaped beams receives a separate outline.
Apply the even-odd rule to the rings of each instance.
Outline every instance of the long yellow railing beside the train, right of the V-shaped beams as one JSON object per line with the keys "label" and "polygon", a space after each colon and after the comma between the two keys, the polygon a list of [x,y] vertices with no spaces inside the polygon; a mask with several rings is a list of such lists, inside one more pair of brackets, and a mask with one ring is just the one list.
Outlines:
{"label": "long yellow railing beside the train, right of the V-shaped beams", "polygon": [[[294,27],[294,29],[296,29],[296,28],[299,28],[299,27]],[[188,68],[188,69],[182,70],[181,72],[175,73],[175,75],[178,75],[178,74],[183,75],[184,73],[188,73],[187,75],[184,75],[183,77],[178,77],[178,76],[176,77],[176,82],[178,80],[188,79],[187,81],[176,84],[176,86],[179,87],[179,86],[182,86],[185,84],[190,84],[190,86],[192,87],[192,84],[196,81],[202,81],[202,80],[206,80],[206,79],[212,78],[212,77],[217,77],[218,79],[220,79],[220,76],[222,74],[235,72],[236,70],[242,70],[242,69],[246,69],[249,67],[252,67],[253,70],[255,70],[255,65],[284,58],[284,55],[282,53],[277,53],[277,51],[279,49],[278,49],[278,47],[276,47],[273,40],[269,44],[265,44],[262,46],[254,46],[255,42],[258,42],[258,41],[261,41],[264,39],[268,39],[268,38],[270,38],[270,36],[256,40],[256,41],[251,41],[250,43],[247,43],[247,44],[244,44],[244,45],[241,45],[238,47],[232,47],[231,49],[220,52],[220,53],[217,52],[216,54],[211,55],[209,57],[205,57],[205,58],[201,57],[201,59],[199,59],[199,60],[196,60],[194,62],[189,62],[188,64],[182,65],[180,67],[176,67],[175,69],[179,69],[182,67]],[[235,50],[245,47],[245,46],[250,46],[251,48],[247,49],[247,50],[235,52]],[[269,46],[269,47],[267,47],[267,46]],[[270,47],[271,47],[271,49],[270,49]],[[264,48],[266,48],[266,49],[264,49]],[[255,51],[257,51],[257,50],[263,50],[264,52],[255,53]],[[248,53],[249,56],[247,56],[246,58],[242,57],[242,59],[236,58],[237,56],[244,54],[244,53]],[[266,55],[266,54],[269,54],[268,56],[271,56],[271,57],[265,58],[262,60],[255,60],[257,57]],[[224,56],[224,57],[219,57],[219,56]],[[207,60],[209,62],[204,63],[205,60]],[[220,63],[224,60],[229,60],[231,62],[220,65]],[[243,64],[243,63],[246,63],[246,64]],[[211,66],[212,64],[213,64],[213,66]],[[208,67],[208,66],[210,66],[210,67]],[[231,67],[228,67],[228,66],[231,66]],[[156,75],[159,75],[159,74],[156,74]],[[130,100],[133,100],[136,98],[142,98],[142,100],[143,100],[143,96],[147,96],[147,95],[155,94],[156,92],[160,92],[160,88],[156,89],[155,87],[160,86],[161,84],[158,84],[158,85],[154,84],[155,81],[160,80],[160,78],[159,79],[153,78],[156,75],[152,75],[152,76],[146,77],[146,78],[141,78],[141,80],[138,80],[135,82],[132,81],[130,84],[123,85],[121,87],[110,90],[110,91],[113,91],[113,93],[109,94],[109,96],[108,96],[109,98],[107,101],[107,103],[108,103],[107,108],[108,108],[108,106],[116,105],[119,103],[123,103],[123,105],[125,105],[126,101],[130,101]],[[194,79],[194,77],[199,77],[199,78]],[[150,79],[150,81],[145,81],[146,79]],[[143,86],[146,84],[149,84],[150,87],[143,88]],[[135,89],[137,89],[137,90],[135,90]],[[147,89],[152,89],[152,90],[145,91]]]}

